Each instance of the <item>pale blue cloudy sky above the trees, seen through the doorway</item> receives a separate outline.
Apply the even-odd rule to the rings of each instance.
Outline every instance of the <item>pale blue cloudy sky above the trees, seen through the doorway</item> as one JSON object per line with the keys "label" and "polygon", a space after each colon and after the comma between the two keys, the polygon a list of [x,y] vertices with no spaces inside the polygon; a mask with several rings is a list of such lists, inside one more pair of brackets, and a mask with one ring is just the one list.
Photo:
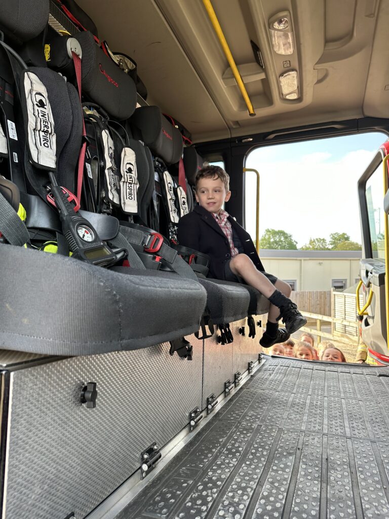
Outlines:
{"label": "pale blue cloudy sky above the trees, seen through the doorway", "polygon": [[[361,243],[357,181],[386,140],[362,133],[257,148],[246,168],[260,174],[259,236],[267,228],[310,238],[346,233]],[[256,175],[246,173],[246,229],[255,238]]]}

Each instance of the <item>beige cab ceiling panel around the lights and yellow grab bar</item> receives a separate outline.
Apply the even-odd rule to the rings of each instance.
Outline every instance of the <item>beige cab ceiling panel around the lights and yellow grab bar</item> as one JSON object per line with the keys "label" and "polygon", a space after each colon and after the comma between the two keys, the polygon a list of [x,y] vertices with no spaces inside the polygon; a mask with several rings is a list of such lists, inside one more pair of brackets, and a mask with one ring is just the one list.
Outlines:
{"label": "beige cab ceiling panel around the lights and yellow grab bar", "polygon": [[[207,141],[360,117],[389,117],[389,0],[213,0],[256,112],[249,117],[201,0],[79,0],[115,50],[128,53],[149,102]],[[272,48],[269,20],[289,11],[293,54]],[[261,50],[255,61],[250,40]],[[284,62],[289,60],[290,64]],[[300,98],[279,76],[297,70]]]}

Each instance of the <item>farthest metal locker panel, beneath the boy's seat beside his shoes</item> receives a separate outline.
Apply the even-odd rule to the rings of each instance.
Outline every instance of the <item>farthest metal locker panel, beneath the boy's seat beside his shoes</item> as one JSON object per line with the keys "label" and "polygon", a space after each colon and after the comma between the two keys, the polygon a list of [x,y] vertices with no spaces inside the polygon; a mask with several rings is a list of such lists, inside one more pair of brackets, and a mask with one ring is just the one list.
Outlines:
{"label": "farthest metal locker panel, beneath the boy's seat beside his shoes", "polygon": [[[254,318],[255,322],[258,319]],[[239,328],[244,327],[244,335],[239,334]],[[256,335],[254,339],[248,337],[248,326],[247,319],[237,321],[233,324],[234,342],[232,343],[233,360],[232,360],[232,371],[233,373],[241,372],[244,373],[248,369],[248,362],[258,360],[258,353],[260,351],[259,346],[259,334],[258,327],[256,326]]]}

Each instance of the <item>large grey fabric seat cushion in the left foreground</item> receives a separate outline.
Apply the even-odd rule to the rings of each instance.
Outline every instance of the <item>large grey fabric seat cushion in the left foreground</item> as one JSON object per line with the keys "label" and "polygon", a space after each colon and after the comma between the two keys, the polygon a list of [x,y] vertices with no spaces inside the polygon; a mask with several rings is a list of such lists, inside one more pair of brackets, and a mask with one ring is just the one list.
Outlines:
{"label": "large grey fabric seat cushion in the left foreground", "polygon": [[86,355],[199,329],[206,292],[197,281],[127,270],[0,244],[0,348]]}

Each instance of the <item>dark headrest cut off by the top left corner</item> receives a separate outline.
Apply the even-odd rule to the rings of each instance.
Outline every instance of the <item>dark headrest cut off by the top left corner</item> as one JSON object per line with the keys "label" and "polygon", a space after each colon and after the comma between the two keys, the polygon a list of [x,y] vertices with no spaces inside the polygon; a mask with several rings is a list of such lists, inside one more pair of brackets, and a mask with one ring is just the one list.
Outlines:
{"label": "dark headrest cut off by the top left corner", "polygon": [[17,43],[28,42],[43,32],[50,11],[50,0],[2,1],[0,29]]}

